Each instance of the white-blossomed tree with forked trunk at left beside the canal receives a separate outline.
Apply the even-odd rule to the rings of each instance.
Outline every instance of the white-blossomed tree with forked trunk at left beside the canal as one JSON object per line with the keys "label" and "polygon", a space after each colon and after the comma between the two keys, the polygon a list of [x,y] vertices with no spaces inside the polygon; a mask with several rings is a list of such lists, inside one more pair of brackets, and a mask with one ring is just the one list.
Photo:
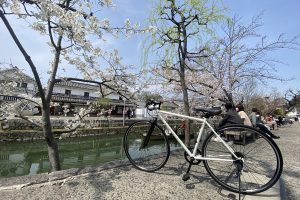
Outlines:
{"label": "white-blossomed tree with forked trunk at left beside the canal", "polygon": [[[50,101],[57,71],[62,61],[76,66],[86,80],[98,80],[125,94],[134,88],[133,73],[125,73],[129,66],[122,64],[118,51],[106,51],[93,41],[105,41],[107,34],[125,36],[148,32],[153,29],[140,29],[128,19],[121,27],[113,27],[107,18],[100,19],[96,11],[115,6],[111,0],[0,0],[0,17],[14,42],[30,66],[41,99],[42,129],[48,145],[48,155],[52,171],[60,170],[57,143],[54,139],[50,120]],[[16,15],[26,20],[30,27],[41,35],[48,36],[48,45],[53,53],[50,66],[36,66],[22,46],[6,16]],[[20,38],[20,39],[19,39]],[[105,62],[103,62],[105,61]],[[103,64],[106,63],[106,64]],[[46,90],[43,89],[38,70],[49,68]]]}

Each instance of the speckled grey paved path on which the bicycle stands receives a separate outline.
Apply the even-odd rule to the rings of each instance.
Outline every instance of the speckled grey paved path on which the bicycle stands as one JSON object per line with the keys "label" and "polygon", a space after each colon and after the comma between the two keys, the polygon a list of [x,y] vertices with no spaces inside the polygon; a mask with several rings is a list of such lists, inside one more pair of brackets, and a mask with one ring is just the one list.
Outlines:
{"label": "speckled grey paved path on which the bicycle stands", "polygon": [[[284,158],[279,182],[268,191],[242,199],[300,199],[300,123],[274,131]],[[238,199],[222,190],[202,165],[192,168],[192,177],[183,182],[187,168],[182,155],[172,155],[167,165],[146,173],[120,162],[70,169],[51,174],[0,179],[0,199]]]}

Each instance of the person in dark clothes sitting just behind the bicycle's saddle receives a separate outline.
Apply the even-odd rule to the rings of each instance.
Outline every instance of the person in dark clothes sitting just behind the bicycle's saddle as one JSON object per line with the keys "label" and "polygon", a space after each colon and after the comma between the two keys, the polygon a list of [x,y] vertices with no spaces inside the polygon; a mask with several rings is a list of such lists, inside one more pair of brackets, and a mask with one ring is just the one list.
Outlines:
{"label": "person in dark clothes sitting just behind the bicycle's saddle", "polygon": [[229,125],[229,124],[243,124],[242,118],[234,109],[232,103],[228,102],[225,104],[226,114],[219,123],[219,127]]}

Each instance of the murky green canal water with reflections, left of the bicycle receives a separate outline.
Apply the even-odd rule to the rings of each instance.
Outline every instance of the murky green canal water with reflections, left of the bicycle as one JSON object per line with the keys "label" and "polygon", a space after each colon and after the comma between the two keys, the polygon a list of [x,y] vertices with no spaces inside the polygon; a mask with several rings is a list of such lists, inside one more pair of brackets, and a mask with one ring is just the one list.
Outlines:
{"label": "murky green canal water with reflections, left of the bicycle", "polygon": [[[122,135],[68,138],[59,141],[62,169],[126,159]],[[171,149],[178,144],[171,142]],[[50,171],[45,141],[0,143],[0,177]]]}

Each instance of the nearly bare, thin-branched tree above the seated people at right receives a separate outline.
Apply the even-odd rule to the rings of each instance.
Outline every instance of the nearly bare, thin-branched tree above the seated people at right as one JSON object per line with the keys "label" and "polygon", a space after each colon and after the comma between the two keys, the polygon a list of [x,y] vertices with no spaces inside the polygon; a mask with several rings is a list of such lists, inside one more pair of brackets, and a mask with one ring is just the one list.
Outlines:
{"label": "nearly bare, thin-branched tree above the seated people at right", "polygon": [[282,49],[299,49],[299,36],[289,39],[279,35],[277,39],[270,40],[258,33],[260,27],[261,15],[248,24],[242,23],[242,18],[237,16],[227,19],[219,39],[210,43],[211,56],[199,60],[219,80],[223,101],[234,103],[235,99],[243,96],[241,89],[252,87],[253,82],[267,85],[268,80],[289,80],[276,74],[275,66],[283,63],[270,54]]}

